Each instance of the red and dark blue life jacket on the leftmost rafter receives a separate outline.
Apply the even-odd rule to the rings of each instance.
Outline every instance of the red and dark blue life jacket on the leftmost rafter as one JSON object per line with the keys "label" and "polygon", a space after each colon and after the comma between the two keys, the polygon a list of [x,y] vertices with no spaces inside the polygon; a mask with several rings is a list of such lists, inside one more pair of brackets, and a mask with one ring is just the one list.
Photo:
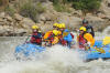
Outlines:
{"label": "red and dark blue life jacket on the leftmost rafter", "polygon": [[31,36],[31,43],[41,44],[42,43],[42,33],[34,32]]}

